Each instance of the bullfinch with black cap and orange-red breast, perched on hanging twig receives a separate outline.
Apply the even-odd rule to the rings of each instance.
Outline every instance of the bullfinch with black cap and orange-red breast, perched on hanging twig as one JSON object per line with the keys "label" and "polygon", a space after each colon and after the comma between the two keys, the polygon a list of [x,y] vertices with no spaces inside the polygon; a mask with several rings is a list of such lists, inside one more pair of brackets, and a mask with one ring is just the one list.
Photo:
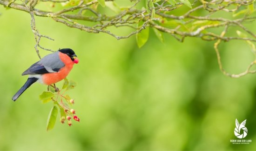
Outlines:
{"label": "bullfinch with black cap and orange-red breast, perched on hanging twig", "polygon": [[28,79],[20,90],[13,95],[12,100],[15,101],[19,98],[35,82],[52,85],[65,79],[73,65],[78,62],[79,59],[70,48],[60,49],[55,53],[46,55],[22,73],[22,76],[28,75]]}

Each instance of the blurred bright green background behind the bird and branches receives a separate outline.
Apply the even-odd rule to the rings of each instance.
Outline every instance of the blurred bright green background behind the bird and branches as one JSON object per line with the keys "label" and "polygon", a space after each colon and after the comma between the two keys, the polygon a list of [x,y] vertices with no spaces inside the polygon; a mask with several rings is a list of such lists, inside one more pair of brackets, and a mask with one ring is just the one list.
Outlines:
{"label": "blurred bright green background behind the bird and branches", "polygon": [[[72,48],[80,59],[68,79],[81,122],[58,122],[46,131],[52,103],[42,104],[47,86],[34,84],[16,101],[21,76],[38,60],[30,15],[0,7],[0,150],[255,150],[255,74],[231,79],[220,72],[213,42],[153,31],[139,49],[135,36],[116,40],[36,17],[41,46]],[[256,23],[250,23],[255,27]],[[123,31],[122,35],[130,31]],[[229,72],[243,72],[253,54],[242,41],[220,47]],[[41,51],[46,55],[47,51]],[[235,119],[247,119],[250,144],[234,145]]]}

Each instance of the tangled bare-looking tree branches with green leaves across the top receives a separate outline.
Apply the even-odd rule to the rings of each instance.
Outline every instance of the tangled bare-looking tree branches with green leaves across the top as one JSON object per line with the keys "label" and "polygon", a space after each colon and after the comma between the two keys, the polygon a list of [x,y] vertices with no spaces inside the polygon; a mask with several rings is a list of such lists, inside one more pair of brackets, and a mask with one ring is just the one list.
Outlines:
{"label": "tangled bare-looking tree branches with green leaves across the top", "polygon": [[[22,4],[18,3],[22,1]],[[154,2],[157,1],[157,2]],[[62,6],[63,9],[57,11],[45,11],[38,9],[38,3],[45,3],[46,6],[54,5]],[[52,51],[40,46],[41,37],[51,39],[48,36],[41,35],[35,26],[35,16],[51,18],[56,22],[64,24],[68,27],[77,28],[88,33],[107,33],[115,39],[126,39],[132,35],[140,33],[146,27],[155,28],[162,33],[168,33],[178,41],[183,42],[186,37],[197,37],[206,41],[216,41],[214,48],[216,50],[220,70],[227,76],[238,78],[250,71],[255,61],[253,61],[248,69],[241,74],[227,73],[221,63],[218,46],[222,41],[243,40],[254,47],[256,42],[256,34],[249,30],[244,24],[248,21],[252,22],[256,19],[254,15],[254,0],[194,0],[191,4],[194,8],[190,9],[183,15],[175,15],[172,11],[186,7],[183,3],[174,3],[173,0],[130,0],[131,5],[119,6],[115,0],[105,0],[106,7],[113,12],[105,14],[98,0],[0,0],[0,5],[10,7],[16,10],[30,13],[31,29],[34,33],[36,45],[35,50],[40,57],[38,47],[41,49]],[[146,9],[138,7],[143,4]],[[59,8],[59,7],[58,7]],[[47,9],[51,10],[51,9]],[[206,15],[198,15],[200,11],[208,12]],[[234,17],[224,18],[216,17],[217,12],[233,15]],[[138,26],[139,22],[143,22],[142,26]],[[88,22],[90,22],[88,24]],[[245,32],[245,36],[227,36],[230,26],[235,26]],[[120,30],[129,29],[127,35],[119,35],[113,33],[109,27],[115,27]],[[215,29],[223,29],[219,34]],[[229,30],[230,31],[230,30]],[[162,33],[161,33],[162,32]],[[230,34],[234,35],[234,34]],[[51,39],[53,40],[53,39]]]}

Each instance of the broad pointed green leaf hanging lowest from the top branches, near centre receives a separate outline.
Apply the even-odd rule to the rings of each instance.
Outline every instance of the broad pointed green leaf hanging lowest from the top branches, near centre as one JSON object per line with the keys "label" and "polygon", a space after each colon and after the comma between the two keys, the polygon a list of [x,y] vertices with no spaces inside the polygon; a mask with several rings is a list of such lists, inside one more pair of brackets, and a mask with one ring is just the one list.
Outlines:
{"label": "broad pointed green leaf hanging lowest from the top branches, near centre", "polygon": [[[141,27],[143,25],[143,21],[140,21],[138,23],[138,27]],[[146,29],[141,30],[140,33],[136,33],[136,41],[139,48],[143,46],[148,41],[148,35],[149,35],[149,28],[146,27]]]}

